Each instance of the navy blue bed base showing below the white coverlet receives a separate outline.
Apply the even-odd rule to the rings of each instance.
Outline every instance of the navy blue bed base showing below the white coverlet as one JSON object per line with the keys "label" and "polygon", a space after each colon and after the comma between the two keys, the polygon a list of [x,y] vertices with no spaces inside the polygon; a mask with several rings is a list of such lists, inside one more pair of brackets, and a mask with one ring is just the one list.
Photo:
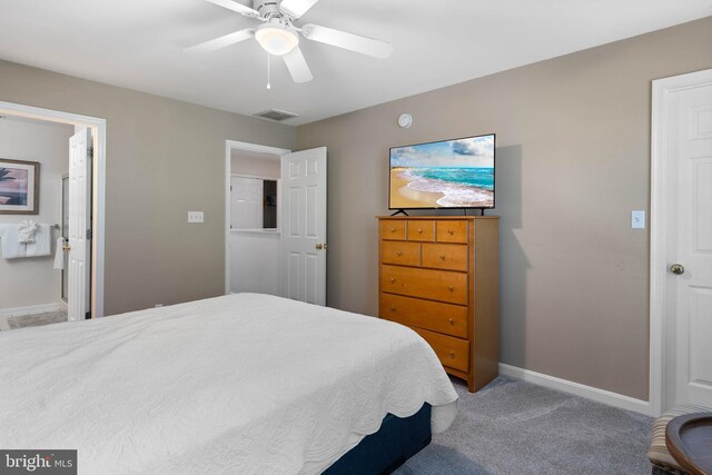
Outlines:
{"label": "navy blue bed base showing below the white coverlet", "polygon": [[377,433],[364,437],[324,474],[389,474],[427,446],[431,435],[431,405],[427,403],[411,417],[386,414]]}

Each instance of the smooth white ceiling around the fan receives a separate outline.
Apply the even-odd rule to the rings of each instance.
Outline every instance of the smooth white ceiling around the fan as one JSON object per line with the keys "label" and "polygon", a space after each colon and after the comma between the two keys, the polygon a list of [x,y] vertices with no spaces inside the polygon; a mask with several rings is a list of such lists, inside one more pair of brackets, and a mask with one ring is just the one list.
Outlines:
{"label": "smooth white ceiling around the fan", "polygon": [[303,39],[315,79],[296,85],[273,58],[267,90],[254,40],[184,52],[256,24],[204,0],[0,0],[0,58],[301,125],[711,14],[712,0],[320,0],[297,26],[383,39],[393,56]]}

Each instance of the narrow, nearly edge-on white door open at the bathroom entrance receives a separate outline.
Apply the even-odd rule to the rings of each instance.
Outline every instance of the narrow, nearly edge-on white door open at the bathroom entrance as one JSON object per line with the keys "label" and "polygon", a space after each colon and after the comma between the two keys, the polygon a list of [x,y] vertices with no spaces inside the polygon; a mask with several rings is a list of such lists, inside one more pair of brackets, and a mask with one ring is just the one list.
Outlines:
{"label": "narrow, nearly edge-on white door open at the bathroom entrance", "polygon": [[67,317],[83,320],[90,307],[91,271],[91,132],[69,139],[69,257]]}

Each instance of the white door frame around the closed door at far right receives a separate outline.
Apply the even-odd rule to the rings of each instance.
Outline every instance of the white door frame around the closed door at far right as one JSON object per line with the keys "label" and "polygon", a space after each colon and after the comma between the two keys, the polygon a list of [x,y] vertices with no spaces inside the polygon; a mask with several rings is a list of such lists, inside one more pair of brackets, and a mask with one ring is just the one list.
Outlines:
{"label": "white door frame around the closed door at far right", "polygon": [[709,80],[712,69],[653,80],[651,109],[650,210],[650,412],[662,412],[665,387],[665,304],[668,291],[668,164],[665,125],[671,92]]}

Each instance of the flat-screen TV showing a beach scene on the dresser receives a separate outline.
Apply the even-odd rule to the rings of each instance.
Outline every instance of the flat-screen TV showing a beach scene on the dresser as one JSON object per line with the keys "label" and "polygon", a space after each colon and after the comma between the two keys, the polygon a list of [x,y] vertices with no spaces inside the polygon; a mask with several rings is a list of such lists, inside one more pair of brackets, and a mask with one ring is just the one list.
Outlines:
{"label": "flat-screen TV showing a beach scene on the dresser", "polygon": [[495,135],[390,149],[388,209],[494,208]]}

